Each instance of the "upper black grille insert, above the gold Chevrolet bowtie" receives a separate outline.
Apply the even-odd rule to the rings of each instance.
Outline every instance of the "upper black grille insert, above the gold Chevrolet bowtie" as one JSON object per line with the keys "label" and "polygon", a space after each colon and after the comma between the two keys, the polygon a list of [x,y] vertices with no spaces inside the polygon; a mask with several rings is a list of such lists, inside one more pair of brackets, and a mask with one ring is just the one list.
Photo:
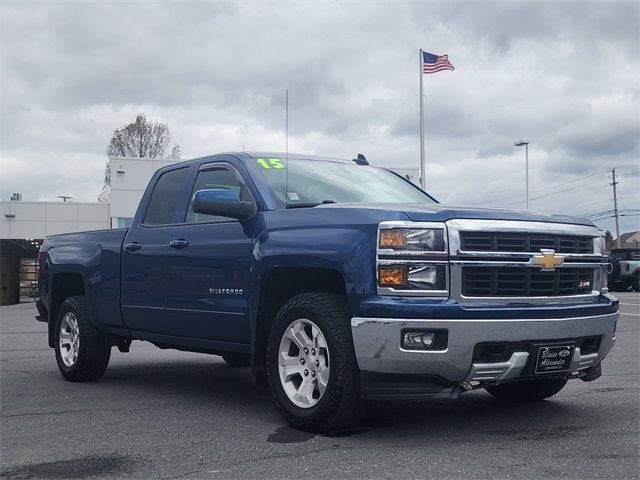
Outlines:
{"label": "upper black grille insert, above the gold Chevrolet bowtie", "polygon": [[522,232],[460,232],[461,249],[473,252],[593,253],[593,237]]}

